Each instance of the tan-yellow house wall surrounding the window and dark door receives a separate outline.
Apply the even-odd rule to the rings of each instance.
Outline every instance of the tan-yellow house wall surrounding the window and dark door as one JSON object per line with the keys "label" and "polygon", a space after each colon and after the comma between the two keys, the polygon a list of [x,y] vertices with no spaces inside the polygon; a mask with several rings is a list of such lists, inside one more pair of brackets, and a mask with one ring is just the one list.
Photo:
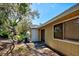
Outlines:
{"label": "tan-yellow house wall surrounding the window and dark door", "polygon": [[48,25],[45,25],[45,26],[39,28],[39,38],[41,37],[40,36],[41,29],[45,29],[45,43],[47,45],[49,45],[51,48],[65,54],[65,55],[79,55],[79,43],[78,42],[55,39],[54,31],[53,31],[54,25],[69,21],[70,20],[69,18],[72,18],[75,16],[79,16],[79,10],[77,10],[69,15],[66,15],[62,18],[59,18],[56,21],[54,21]]}

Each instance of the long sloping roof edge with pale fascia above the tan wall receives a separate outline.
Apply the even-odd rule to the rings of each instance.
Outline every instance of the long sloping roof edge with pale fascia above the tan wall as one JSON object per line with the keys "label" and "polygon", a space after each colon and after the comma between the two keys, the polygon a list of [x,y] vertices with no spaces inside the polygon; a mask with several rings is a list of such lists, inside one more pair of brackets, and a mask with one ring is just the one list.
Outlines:
{"label": "long sloping roof edge with pale fascia above the tan wall", "polygon": [[45,25],[47,25],[49,23],[52,23],[52,22],[56,21],[57,19],[62,18],[64,16],[68,15],[68,14],[71,14],[74,11],[77,11],[77,10],[79,10],[79,4],[76,4],[76,5],[72,6],[68,10],[64,11],[63,13],[61,13],[60,15],[58,15],[58,16],[52,18],[51,20],[47,21],[46,23],[40,25],[38,28],[41,28],[41,27],[43,27],[43,26],[45,26]]}

